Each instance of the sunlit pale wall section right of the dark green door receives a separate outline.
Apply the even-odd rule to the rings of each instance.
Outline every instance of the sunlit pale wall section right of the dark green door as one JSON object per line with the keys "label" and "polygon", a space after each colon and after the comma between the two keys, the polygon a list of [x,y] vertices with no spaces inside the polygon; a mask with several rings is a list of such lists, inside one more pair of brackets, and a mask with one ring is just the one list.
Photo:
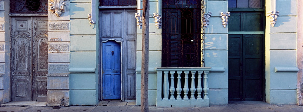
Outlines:
{"label": "sunlit pale wall section right of the dark green door", "polygon": [[[265,31],[265,94],[270,104],[296,104],[297,72],[297,1],[265,1],[265,12],[279,11],[274,27],[266,18]],[[279,68],[286,68],[278,72]],[[285,97],[287,96],[287,97]]]}

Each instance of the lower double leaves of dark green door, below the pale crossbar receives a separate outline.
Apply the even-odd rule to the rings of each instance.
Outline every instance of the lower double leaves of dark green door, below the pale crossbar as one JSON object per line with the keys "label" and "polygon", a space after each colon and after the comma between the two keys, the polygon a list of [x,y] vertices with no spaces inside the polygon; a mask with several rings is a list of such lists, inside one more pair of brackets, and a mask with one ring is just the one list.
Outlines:
{"label": "lower double leaves of dark green door, below the pale crossbar", "polygon": [[228,35],[228,39],[228,99],[263,100],[262,35]]}

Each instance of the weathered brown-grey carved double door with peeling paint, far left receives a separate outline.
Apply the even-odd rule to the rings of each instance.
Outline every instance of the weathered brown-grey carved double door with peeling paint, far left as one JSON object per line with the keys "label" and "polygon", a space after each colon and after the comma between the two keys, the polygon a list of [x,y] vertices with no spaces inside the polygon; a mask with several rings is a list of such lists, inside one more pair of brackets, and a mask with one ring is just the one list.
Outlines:
{"label": "weathered brown-grey carved double door with peeling paint, far left", "polygon": [[47,17],[12,17],[12,101],[47,101]]}

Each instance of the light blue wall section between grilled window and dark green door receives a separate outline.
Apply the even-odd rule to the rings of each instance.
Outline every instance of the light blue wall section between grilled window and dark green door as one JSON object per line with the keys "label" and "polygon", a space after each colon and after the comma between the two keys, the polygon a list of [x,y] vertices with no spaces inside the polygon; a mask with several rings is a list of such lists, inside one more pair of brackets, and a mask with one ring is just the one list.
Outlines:
{"label": "light blue wall section between grilled window and dark green door", "polygon": [[225,69],[208,74],[209,104],[222,105],[228,103],[228,26],[223,27],[220,13],[227,12],[227,0],[208,0],[206,4],[206,11],[212,14],[205,28],[205,67]]}

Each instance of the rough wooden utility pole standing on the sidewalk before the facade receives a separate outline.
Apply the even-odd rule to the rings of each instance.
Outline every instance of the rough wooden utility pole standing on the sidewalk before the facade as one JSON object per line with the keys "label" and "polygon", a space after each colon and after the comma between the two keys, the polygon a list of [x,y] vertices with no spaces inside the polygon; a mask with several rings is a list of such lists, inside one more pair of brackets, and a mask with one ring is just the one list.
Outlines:
{"label": "rough wooden utility pole standing on the sidewalk before the facade", "polygon": [[149,0],[143,0],[142,3],[141,111],[148,112]]}

